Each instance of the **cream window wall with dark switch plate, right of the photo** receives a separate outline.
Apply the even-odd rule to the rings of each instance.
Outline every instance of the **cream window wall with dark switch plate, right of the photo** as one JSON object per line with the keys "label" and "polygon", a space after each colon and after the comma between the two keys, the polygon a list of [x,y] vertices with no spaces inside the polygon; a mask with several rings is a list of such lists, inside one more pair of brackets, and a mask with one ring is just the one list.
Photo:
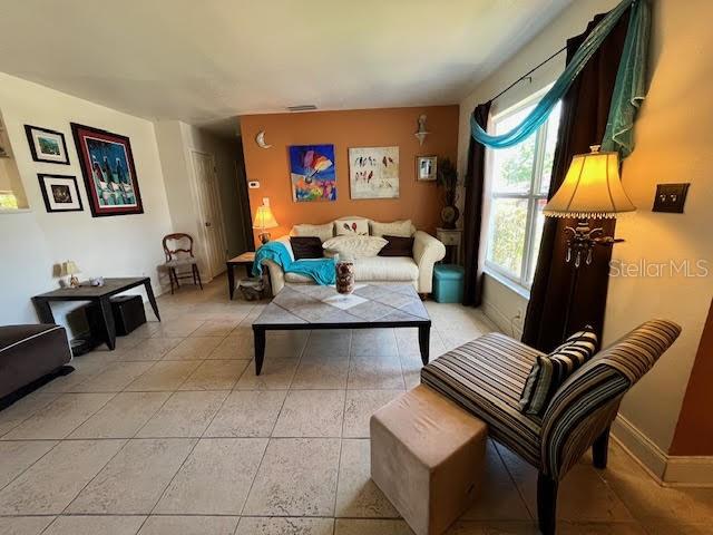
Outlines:
{"label": "cream window wall with dark switch plate, right of the photo", "polygon": [[[469,143],[468,119],[473,107],[499,90],[549,54],[564,46],[568,37],[580,33],[595,13],[604,12],[616,0],[573,2],[537,38],[481,84],[461,103],[459,164],[465,169]],[[625,262],[681,262],[705,259],[713,264],[713,233],[710,232],[713,182],[707,162],[713,156],[713,116],[707,68],[713,33],[707,20],[713,6],[706,0],[675,2],[657,0],[652,32],[652,82],[636,124],[636,150],[623,167],[624,187],[638,212],[617,224],[617,236],[627,241],[614,247],[614,260]],[[551,82],[564,66],[564,55],[521,82],[498,100],[498,109],[521,100]],[[655,185],[691,182],[686,213],[651,212]],[[509,293],[508,293],[509,292]],[[668,450],[695,348],[713,292],[712,276],[615,278],[611,279],[604,325],[604,343],[609,343],[638,323],[656,317],[683,325],[683,334],[661,362],[625,398],[621,414],[633,426],[627,436],[617,436],[642,457],[648,454],[635,441],[647,442],[660,454]],[[486,281],[485,310],[497,309],[512,317],[525,301],[499,283]],[[498,318],[492,318],[498,320]],[[499,318],[500,322],[502,319]],[[507,331],[509,332],[509,331]],[[644,459],[648,460],[648,459]]]}

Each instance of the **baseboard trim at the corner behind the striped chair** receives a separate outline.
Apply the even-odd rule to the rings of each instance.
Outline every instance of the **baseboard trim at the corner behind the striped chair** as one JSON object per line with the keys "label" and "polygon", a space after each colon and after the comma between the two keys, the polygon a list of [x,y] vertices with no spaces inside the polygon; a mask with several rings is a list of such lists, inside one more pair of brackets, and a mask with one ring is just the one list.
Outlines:
{"label": "baseboard trim at the corner behind the striped chair", "polygon": [[713,457],[670,456],[622,415],[612,437],[664,487],[713,487]]}

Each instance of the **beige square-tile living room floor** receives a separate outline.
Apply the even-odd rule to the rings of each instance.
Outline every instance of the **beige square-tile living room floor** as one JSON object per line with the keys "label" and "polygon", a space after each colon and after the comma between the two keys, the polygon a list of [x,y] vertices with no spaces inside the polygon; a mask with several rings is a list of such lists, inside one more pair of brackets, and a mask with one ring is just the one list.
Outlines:
{"label": "beige square-tile living room floor", "polygon": [[[268,333],[223,278],[0,412],[0,535],[411,533],[369,478],[369,416],[419,382],[416,329]],[[428,302],[431,357],[492,329]],[[150,313],[147,313],[153,319]],[[496,442],[455,535],[534,534],[536,473]],[[563,534],[713,533],[713,489],[656,485],[618,446],[560,486]]]}

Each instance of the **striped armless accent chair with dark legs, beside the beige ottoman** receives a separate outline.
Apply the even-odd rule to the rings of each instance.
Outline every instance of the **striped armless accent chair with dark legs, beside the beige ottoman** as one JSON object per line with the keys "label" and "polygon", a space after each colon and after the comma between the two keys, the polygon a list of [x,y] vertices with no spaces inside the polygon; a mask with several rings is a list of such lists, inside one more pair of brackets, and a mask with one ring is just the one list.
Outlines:
{"label": "striped armless accent chair with dark legs, beside the beige ottoman", "polygon": [[524,415],[518,402],[543,353],[500,333],[439,357],[422,368],[421,382],[484,420],[491,438],[539,470],[539,528],[550,535],[559,481],[589,447],[595,467],[606,468],[609,427],[622,398],[680,333],[681,328],[666,320],[637,327],[575,371],[541,418]]}

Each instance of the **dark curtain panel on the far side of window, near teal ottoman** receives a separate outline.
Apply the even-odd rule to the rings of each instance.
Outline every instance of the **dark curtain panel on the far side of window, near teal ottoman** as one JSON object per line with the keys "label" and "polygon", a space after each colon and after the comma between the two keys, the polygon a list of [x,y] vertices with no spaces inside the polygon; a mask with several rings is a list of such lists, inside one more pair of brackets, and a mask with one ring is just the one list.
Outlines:
{"label": "dark curtain panel on the far side of window, near teal ottoman", "polygon": [[[472,113],[476,121],[486,128],[490,114],[490,101],[479,104]],[[463,250],[466,279],[463,304],[480,307],[482,302],[482,255],[480,254],[480,228],[482,226],[482,191],[485,184],[486,147],[470,138],[468,171],[466,172],[466,204],[463,207]]]}

